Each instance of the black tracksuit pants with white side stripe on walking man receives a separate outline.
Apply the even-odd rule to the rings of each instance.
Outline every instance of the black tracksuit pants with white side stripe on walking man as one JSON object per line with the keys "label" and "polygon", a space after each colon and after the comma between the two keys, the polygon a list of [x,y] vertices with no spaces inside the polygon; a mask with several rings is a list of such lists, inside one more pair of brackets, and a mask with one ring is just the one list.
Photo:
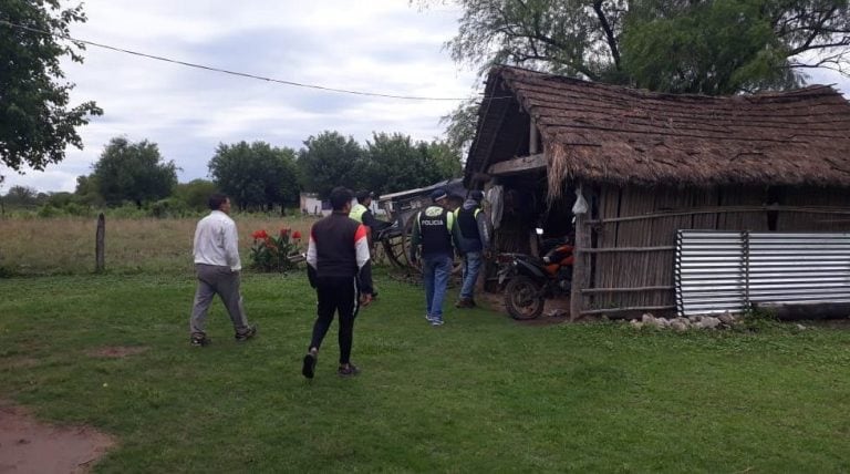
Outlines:
{"label": "black tracksuit pants with white side stripe on walking man", "polygon": [[333,321],[333,313],[340,316],[340,364],[350,362],[354,340],[354,318],[360,309],[360,290],[356,277],[318,277],[315,295],[319,298],[318,316],[313,323],[313,339],[310,348],[319,349]]}

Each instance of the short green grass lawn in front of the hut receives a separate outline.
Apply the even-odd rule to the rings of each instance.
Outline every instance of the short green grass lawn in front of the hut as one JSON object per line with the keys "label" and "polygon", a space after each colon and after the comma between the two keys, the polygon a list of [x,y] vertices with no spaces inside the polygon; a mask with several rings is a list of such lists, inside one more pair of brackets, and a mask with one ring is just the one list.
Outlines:
{"label": "short green grass lawn in front of the hut", "polygon": [[[188,275],[0,279],[0,398],[117,436],[99,472],[848,472],[850,331],[521,326],[381,274],[357,319],[360,377],[300,361],[314,295],[246,275],[259,337],[188,344]],[[449,299],[449,302],[453,300]],[[104,347],[145,347],[101,358]]]}

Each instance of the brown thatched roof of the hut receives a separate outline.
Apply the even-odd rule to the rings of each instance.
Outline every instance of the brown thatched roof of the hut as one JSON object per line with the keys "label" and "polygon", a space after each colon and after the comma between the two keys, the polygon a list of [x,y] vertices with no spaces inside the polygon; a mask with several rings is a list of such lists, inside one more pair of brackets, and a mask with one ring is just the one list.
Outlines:
{"label": "brown thatched roof of the hut", "polygon": [[467,179],[527,152],[530,116],[550,184],[850,186],[850,103],[826,85],[712,97],[499,66],[486,97]]}

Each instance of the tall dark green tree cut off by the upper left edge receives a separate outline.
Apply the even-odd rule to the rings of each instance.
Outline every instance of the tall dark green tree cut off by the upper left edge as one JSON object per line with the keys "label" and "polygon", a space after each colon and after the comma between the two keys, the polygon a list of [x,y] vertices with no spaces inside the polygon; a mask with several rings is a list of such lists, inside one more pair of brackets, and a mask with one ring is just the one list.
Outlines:
{"label": "tall dark green tree cut off by the upper left edge", "polygon": [[0,0],[0,159],[11,169],[44,169],[83,147],[76,128],[102,114],[94,102],[69,106],[74,84],[63,81],[61,59],[83,62],[83,44],[62,40],[84,22],[82,4],[60,0]]}

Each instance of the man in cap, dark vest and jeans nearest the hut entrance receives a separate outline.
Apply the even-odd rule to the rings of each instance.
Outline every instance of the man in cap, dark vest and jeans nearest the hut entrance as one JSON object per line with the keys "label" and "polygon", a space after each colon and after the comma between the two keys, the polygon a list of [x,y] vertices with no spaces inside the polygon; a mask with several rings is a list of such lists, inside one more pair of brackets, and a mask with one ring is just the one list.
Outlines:
{"label": "man in cap, dark vest and jeans nearest the hut entrance", "polygon": [[493,230],[481,210],[484,193],[473,190],[464,204],[455,210],[458,227],[458,251],[464,258],[464,284],[456,308],[475,308],[475,284],[481,270],[484,256],[490,251]]}

